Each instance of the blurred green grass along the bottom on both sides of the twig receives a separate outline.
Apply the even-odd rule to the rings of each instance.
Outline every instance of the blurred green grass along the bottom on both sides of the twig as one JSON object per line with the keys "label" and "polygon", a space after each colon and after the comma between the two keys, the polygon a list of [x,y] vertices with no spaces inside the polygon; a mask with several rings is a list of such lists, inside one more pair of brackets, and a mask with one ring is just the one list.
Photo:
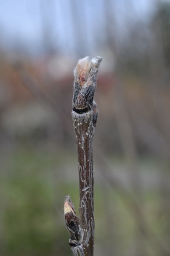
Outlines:
{"label": "blurred green grass along the bottom on both sides of the twig", "polygon": [[[67,162],[71,175],[77,175],[77,169],[73,171],[77,159],[65,151],[51,153],[44,148],[15,148],[10,156],[12,168],[10,166],[9,170],[8,161],[4,163],[3,177],[1,175],[3,241],[0,255],[72,255],[62,207],[65,195],[70,193],[78,212],[78,183],[61,181],[59,172],[60,165]],[[113,163],[121,162],[122,159],[113,159]],[[153,168],[156,163],[142,159],[140,165]],[[10,176],[6,175],[7,172]],[[96,252],[105,253],[105,247],[113,246],[117,253],[124,254],[129,244],[133,244],[136,233],[130,198],[108,185],[103,186],[99,180],[95,184],[94,196]],[[163,237],[168,219],[160,216],[158,221],[161,214],[159,202],[162,200],[158,190],[145,190],[143,198],[143,212],[150,221],[150,227]],[[150,246],[146,253],[154,255]]]}

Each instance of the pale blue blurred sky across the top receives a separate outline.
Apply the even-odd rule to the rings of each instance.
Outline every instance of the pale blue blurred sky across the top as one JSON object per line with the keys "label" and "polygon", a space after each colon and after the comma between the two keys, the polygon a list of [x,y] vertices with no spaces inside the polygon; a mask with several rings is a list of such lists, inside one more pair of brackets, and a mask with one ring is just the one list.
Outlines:
{"label": "pale blue blurred sky across the top", "polygon": [[[111,2],[117,26],[125,29],[127,20],[133,23],[148,16],[155,0]],[[0,0],[0,45],[4,48],[26,44],[30,50],[39,51],[45,37],[54,48],[69,52],[78,38],[79,45],[85,44],[90,51],[96,37],[105,41],[103,7],[107,3],[108,0]],[[75,36],[79,33],[77,28],[81,38]]]}

